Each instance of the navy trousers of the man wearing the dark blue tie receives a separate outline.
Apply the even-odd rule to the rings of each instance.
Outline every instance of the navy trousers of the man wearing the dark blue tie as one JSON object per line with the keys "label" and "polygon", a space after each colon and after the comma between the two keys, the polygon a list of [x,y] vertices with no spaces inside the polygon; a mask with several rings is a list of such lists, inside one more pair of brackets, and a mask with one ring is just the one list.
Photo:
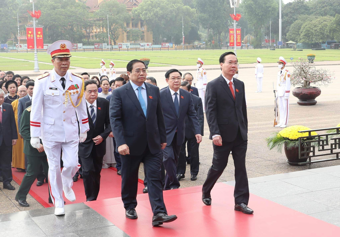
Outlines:
{"label": "navy trousers of the man wearing the dark blue tie", "polygon": [[162,150],[163,164],[166,171],[164,190],[179,188],[180,186],[179,181],[177,180],[179,150],[180,145],[177,145],[177,133],[175,133],[171,144]]}

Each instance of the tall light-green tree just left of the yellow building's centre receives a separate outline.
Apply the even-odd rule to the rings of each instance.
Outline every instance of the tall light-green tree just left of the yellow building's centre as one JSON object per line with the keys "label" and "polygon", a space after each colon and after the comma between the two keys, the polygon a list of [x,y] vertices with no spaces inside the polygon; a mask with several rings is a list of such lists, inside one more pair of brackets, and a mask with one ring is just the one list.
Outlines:
{"label": "tall light-green tree just left of the yellow building's centre", "polygon": [[106,32],[108,30],[113,44],[117,43],[116,40],[119,38],[120,30],[125,30],[125,22],[131,19],[130,14],[126,11],[126,5],[119,3],[117,0],[110,0],[100,4],[99,10],[95,12],[95,15],[100,20],[101,27],[105,28]]}

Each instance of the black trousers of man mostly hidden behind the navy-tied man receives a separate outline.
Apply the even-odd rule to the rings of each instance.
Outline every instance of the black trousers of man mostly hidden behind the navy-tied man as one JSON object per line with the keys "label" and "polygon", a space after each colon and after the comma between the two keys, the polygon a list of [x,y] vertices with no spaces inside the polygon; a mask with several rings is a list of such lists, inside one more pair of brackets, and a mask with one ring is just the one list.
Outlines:
{"label": "black trousers of man mostly hidden behind the navy-tied man", "polygon": [[180,146],[179,159],[177,165],[177,175],[185,174],[186,170],[186,161],[185,161],[185,145],[187,143],[188,150],[190,148],[191,151],[191,159],[190,159],[190,174],[197,175],[199,169],[199,153],[198,147],[199,144],[195,137],[193,138],[184,138],[183,144]]}

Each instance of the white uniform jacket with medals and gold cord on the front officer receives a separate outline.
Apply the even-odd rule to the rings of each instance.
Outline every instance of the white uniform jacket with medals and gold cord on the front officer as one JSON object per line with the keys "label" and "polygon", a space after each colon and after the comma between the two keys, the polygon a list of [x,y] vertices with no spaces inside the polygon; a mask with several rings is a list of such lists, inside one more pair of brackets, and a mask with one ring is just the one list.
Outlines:
{"label": "white uniform jacket with medals and gold cord on the front officer", "polygon": [[67,103],[65,103],[66,90],[71,92],[74,106],[79,103],[81,76],[67,71],[63,77],[66,79],[65,89],[62,89],[60,76],[55,73],[54,69],[35,80],[30,112],[31,137],[41,137],[42,140],[51,142],[76,140],[79,138],[77,118],[80,133],[89,130],[85,96],[83,95],[77,108],[73,107],[68,95]]}

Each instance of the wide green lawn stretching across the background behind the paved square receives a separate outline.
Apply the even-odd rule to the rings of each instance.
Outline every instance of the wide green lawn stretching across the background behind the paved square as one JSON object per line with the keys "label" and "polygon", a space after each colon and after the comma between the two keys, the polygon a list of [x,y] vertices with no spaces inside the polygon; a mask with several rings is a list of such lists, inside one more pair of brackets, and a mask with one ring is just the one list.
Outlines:
{"label": "wide green lawn stretching across the background behind the paved square", "polygon": [[[231,50],[232,51],[232,50]],[[197,58],[200,57],[206,65],[217,65],[219,56],[225,50],[163,50],[163,51],[96,51],[96,52],[72,52],[71,67],[82,68],[99,68],[101,59],[109,63],[112,60],[116,68],[125,67],[126,63],[132,59],[141,57],[150,58],[150,67],[167,66],[167,65],[194,65]],[[314,51],[311,49],[303,49],[303,51],[291,51],[291,49],[243,49],[237,50],[237,58],[239,63],[253,63],[256,58],[260,57],[262,63],[276,62],[279,56],[283,56],[287,61],[290,57],[294,60],[298,57],[306,57],[308,53],[316,55],[315,61],[340,61],[340,51],[327,49],[322,51]],[[4,58],[8,57],[8,58]],[[29,53],[0,53],[0,70],[18,71],[30,70],[34,67],[33,62],[21,61],[15,59],[34,60],[32,52]],[[50,56],[46,53],[38,53],[40,62],[50,62]],[[39,63],[42,70],[52,69],[52,65]]]}

